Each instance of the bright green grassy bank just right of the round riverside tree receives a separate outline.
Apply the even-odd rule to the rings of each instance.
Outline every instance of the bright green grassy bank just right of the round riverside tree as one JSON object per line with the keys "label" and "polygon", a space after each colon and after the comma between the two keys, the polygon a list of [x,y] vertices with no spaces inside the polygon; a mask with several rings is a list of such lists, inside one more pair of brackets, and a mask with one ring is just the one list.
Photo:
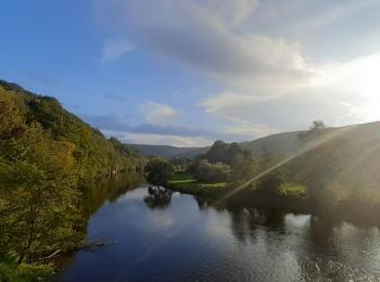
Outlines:
{"label": "bright green grassy bank just right of the round riverside tree", "polygon": [[186,194],[207,197],[218,197],[228,191],[227,182],[204,183],[190,174],[175,174],[168,181],[167,188]]}

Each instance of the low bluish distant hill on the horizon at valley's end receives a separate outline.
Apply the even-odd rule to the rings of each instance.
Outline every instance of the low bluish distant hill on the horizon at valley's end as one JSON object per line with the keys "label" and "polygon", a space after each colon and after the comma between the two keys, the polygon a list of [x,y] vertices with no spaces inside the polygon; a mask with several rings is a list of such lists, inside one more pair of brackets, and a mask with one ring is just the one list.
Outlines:
{"label": "low bluish distant hill on the horizon at valley's end", "polygon": [[127,144],[136,149],[142,155],[164,156],[164,157],[194,157],[204,154],[210,149],[203,148],[179,148],[170,145],[148,145],[148,144]]}

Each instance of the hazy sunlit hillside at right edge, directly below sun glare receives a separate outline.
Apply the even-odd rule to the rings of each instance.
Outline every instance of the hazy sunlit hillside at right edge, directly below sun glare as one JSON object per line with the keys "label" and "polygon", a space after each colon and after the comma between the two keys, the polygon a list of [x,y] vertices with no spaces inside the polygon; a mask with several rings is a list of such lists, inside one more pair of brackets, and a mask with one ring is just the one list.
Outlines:
{"label": "hazy sunlit hillside at right edge, directly below sun glare", "polygon": [[380,196],[380,121],[330,129],[304,151],[284,165],[299,182]]}

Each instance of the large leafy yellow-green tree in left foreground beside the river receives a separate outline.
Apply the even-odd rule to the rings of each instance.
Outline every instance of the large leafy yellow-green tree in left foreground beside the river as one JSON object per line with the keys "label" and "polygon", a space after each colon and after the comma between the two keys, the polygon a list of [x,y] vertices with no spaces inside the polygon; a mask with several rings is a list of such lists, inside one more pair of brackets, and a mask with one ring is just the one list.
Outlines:
{"label": "large leafy yellow-green tree in left foreground beside the river", "polygon": [[81,238],[74,145],[26,124],[1,88],[0,104],[0,255],[20,264]]}

